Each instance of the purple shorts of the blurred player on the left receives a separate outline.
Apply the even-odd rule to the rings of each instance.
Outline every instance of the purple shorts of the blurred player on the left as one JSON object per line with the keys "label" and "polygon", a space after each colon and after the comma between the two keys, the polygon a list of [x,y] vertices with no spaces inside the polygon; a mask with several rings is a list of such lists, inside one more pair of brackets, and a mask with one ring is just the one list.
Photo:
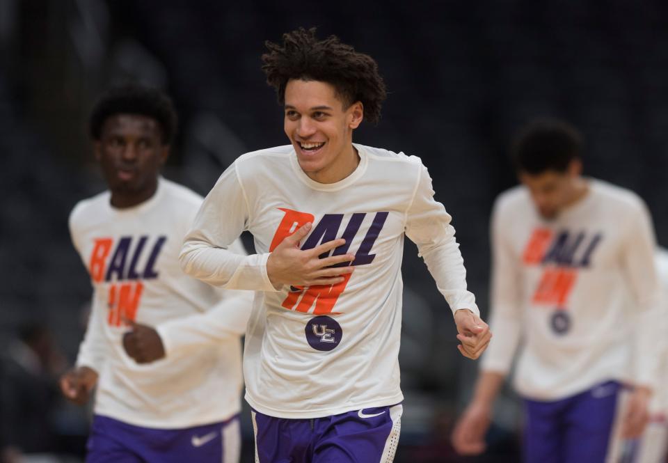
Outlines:
{"label": "purple shorts of the blurred player on the left", "polygon": [[238,463],[239,416],[221,423],[161,430],[95,415],[86,463]]}

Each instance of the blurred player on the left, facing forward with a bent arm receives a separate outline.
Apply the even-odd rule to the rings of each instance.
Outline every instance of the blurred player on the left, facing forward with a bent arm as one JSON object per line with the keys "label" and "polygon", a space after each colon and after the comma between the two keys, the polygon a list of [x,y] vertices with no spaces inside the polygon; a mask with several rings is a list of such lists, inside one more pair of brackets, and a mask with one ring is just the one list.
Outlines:
{"label": "blurred player on the left, facing forward with a bent arm", "polygon": [[[90,116],[109,190],[70,215],[93,308],[61,389],[83,404],[97,386],[91,463],[239,460],[240,337],[251,295],[179,267],[202,198],[159,175],[175,130],[169,98],[141,86],[111,89]],[[231,249],[244,253],[239,242]]]}

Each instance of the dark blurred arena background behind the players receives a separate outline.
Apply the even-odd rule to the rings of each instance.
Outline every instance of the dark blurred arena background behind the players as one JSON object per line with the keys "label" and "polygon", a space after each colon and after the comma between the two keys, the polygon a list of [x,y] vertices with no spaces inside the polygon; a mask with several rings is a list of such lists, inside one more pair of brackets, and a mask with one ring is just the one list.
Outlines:
{"label": "dark blurred arena background behind the players", "polygon": [[[587,175],[637,191],[666,242],[668,3],[0,0],[2,345],[40,322],[58,365],[76,354],[90,285],[67,216],[104,189],[86,133],[95,96],[125,79],[167,91],[181,120],[165,175],[206,194],[237,156],[287,143],[260,54],[264,40],[298,26],[318,26],[378,61],[389,91],[383,118],[355,140],[429,167],[484,314],[488,217],[515,183],[509,141],[532,118],[580,128]],[[511,393],[499,403],[490,454],[452,453],[447,433],[475,364],[459,356],[450,311],[413,244],[404,281],[397,462],[516,461]],[[80,453],[86,414],[54,404],[42,415],[58,430],[56,450]],[[250,459],[247,423],[245,437]]]}

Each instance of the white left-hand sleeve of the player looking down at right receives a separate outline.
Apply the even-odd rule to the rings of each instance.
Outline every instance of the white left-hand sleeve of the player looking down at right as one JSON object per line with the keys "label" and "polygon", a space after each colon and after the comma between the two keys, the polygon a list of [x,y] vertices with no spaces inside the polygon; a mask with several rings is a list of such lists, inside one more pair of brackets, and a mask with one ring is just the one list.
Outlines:
{"label": "white left-hand sleeve of the player looking down at right", "polygon": [[497,203],[491,219],[491,305],[489,327],[494,338],[482,356],[481,369],[507,375],[522,327],[520,304],[520,262],[513,255],[508,230],[502,226],[502,213]]}

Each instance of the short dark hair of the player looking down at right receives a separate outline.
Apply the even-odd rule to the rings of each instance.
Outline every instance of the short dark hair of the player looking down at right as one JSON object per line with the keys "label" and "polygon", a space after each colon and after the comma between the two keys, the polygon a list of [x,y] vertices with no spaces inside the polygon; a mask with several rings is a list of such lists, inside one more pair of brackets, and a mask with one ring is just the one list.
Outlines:
{"label": "short dark hair of the player looking down at right", "polygon": [[519,172],[531,175],[546,171],[564,173],[573,159],[580,159],[582,136],[564,120],[536,119],[516,135],[511,157]]}

